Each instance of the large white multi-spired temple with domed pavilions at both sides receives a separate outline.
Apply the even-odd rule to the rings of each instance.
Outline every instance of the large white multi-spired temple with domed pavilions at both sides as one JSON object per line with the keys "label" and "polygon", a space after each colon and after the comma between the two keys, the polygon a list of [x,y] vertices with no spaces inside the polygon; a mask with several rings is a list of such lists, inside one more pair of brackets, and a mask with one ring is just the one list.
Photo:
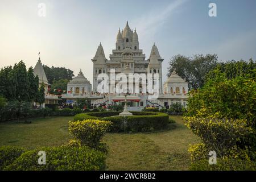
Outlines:
{"label": "large white multi-spired temple with domed pavilions at both sides", "polygon": [[[167,79],[167,81],[162,83],[162,62],[163,59],[159,54],[158,48],[155,43],[152,46],[150,55],[146,59],[146,55],[143,50],[139,47],[139,38],[134,28],[134,31],[129,27],[128,22],[125,28],[121,31],[118,30],[117,39],[115,42],[115,49],[112,50],[112,54],[109,56],[109,60],[106,59],[104,49],[102,44],[98,46],[95,56],[92,59],[93,62],[93,88],[90,90],[90,84],[87,79],[79,73],[79,76],[73,78],[73,80],[78,80],[81,77],[83,83],[74,82],[73,80],[68,84],[68,93],[63,94],[63,98],[67,98],[68,102],[73,102],[77,98],[89,98],[93,105],[100,104],[114,104],[118,101],[117,98],[121,98],[120,94],[96,94],[98,91],[98,84],[100,81],[97,77],[100,73],[106,73],[110,77],[110,69],[115,70],[115,75],[118,73],[159,73],[159,97],[155,100],[150,100],[147,94],[141,92],[142,84],[139,85],[140,93],[131,94],[129,97],[131,100],[134,98],[137,102],[133,102],[130,110],[141,110],[144,106],[159,106],[163,107],[166,105],[171,105],[174,102],[179,102],[180,104],[186,106],[187,104],[187,93],[188,93],[188,83],[185,82],[180,76],[173,72],[172,75]],[[117,84],[118,81],[115,81]],[[85,84],[87,83],[87,85]],[[84,91],[82,90],[84,88]],[[71,90],[72,89],[72,90]],[[164,89],[164,92],[163,92]],[[109,82],[109,90],[110,82]],[[92,92],[90,92],[92,91]],[[72,101],[73,100],[73,101]]]}

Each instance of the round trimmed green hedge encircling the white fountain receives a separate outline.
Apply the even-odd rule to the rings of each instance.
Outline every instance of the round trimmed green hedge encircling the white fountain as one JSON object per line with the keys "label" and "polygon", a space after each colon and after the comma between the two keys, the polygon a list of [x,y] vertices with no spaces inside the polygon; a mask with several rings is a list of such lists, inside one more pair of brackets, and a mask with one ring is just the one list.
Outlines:
{"label": "round trimmed green hedge encircling the white fountain", "polygon": [[112,132],[145,132],[166,129],[169,119],[168,114],[165,113],[131,111],[133,115],[127,117],[119,116],[119,113],[121,113],[121,111],[81,113],[75,115],[74,121],[100,119],[113,123],[110,129]]}

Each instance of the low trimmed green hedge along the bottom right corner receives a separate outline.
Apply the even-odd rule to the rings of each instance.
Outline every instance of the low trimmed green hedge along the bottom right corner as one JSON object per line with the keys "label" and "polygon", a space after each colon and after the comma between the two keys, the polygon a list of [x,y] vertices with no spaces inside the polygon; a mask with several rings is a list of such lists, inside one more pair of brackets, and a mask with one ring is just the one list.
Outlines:
{"label": "low trimmed green hedge along the bottom right corner", "polygon": [[192,163],[189,169],[192,171],[255,171],[256,163],[250,160],[217,158],[217,164],[210,165],[208,159],[204,159]]}

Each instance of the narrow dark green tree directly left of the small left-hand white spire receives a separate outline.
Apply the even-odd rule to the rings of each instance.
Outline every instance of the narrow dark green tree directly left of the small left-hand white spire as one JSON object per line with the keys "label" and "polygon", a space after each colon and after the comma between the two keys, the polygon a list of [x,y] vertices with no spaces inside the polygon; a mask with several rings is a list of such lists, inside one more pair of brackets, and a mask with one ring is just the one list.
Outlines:
{"label": "narrow dark green tree directly left of the small left-hand white spire", "polygon": [[30,101],[35,101],[38,94],[39,80],[38,76],[35,77],[34,70],[32,67],[28,68],[27,71],[27,80],[28,80],[28,97]]}

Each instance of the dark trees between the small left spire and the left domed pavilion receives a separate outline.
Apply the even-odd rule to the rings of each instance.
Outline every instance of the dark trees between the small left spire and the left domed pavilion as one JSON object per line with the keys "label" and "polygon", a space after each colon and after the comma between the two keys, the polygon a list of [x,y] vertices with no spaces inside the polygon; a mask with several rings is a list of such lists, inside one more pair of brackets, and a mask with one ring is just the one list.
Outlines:
{"label": "dark trees between the small left spire and the left domed pavilion", "polygon": [[64,67],[48,67],[47,65],[43,65],[44,72],[46,72],[46,76],[49,84],[53,84],[53,81],[58,81],[61,79],[72,80],[73,71]]}

